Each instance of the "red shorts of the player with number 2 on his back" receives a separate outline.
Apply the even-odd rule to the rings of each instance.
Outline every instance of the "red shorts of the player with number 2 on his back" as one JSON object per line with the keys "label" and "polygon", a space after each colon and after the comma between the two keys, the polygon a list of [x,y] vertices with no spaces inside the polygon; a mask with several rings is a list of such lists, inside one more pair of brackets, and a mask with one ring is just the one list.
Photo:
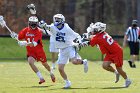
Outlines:
{"label": "red shorts of the player with number 2 on his back", "polygon": [[104,62],[110,61],[115,64],[116,67],[122,67],[123,65],[123,52],[120,51],[115,54],[106,54]]}

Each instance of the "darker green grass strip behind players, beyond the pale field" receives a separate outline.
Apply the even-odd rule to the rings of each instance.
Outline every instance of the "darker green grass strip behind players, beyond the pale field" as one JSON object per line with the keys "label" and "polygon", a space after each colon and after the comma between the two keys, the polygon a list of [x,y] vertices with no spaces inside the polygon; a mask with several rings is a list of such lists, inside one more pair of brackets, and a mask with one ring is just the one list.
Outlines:
{"label": "darker green grass strip behind players, beyond the pale field", "polygon": [[[51,59],[49,53],[49,40],[43,40],[44,50],[47,54],[47,59]],[[83,58],[89,60],[102,60],[102,55],[96,47],[85,47],[79,51]],[[17,42],[11,38],[0,38],[0,58],[26,58],[25,47],[19,47]],[[124,59],[129,58],[128,47],[124,49]]]}

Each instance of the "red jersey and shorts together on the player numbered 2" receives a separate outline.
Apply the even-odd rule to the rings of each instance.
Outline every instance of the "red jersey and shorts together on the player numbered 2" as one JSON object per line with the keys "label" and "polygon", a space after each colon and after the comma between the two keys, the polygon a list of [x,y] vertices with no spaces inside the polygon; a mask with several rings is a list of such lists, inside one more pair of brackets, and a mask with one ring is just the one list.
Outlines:
{"label": "red jersey and shorts together on the player numbered 2", "polygon": [[112,39],[106,32],[97,33],[91,40],[90,45],[97,45],[102,52],[106,54],[104,62],[111,61],[117,67],[123,65],[123,51],[120,45]]}

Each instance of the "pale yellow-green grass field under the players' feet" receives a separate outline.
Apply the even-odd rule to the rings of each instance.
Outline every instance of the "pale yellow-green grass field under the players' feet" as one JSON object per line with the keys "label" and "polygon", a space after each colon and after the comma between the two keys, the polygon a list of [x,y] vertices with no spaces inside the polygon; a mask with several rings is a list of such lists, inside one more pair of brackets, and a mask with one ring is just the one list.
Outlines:
{"label": "pale yellow-green grass field under the players' feet", "polygon": [[101,64],[99,61],[89,62],[89,71],[84,73],[83,66],[69,63],[66,71],[72,87],[62,89],[64,82],[57,69],[54,72],[56,83],[52,83],[48,72],[40,63],[36,63],[46,79],[46,83],[39,85],[36,74],[27,62],[0,62],[0,93],[140,93],[139,62],[136,63],[137,68],[133,69],[124,62],[124,70],[133,81],[129,88],[122,87],[122,77],[115,84],[114,74],[103,70]]}

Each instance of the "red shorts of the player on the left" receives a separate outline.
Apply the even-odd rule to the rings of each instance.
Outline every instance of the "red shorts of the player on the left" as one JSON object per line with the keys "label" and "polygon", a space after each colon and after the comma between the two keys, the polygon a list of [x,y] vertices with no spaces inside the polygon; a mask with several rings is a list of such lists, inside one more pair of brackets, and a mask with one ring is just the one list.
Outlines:
{"label": "red shorts of the player on the left", "polygon": [[29,57],[29,56],[32,56],[36,61],[41,61],[42,63],[47,62],[46,54],[45,54],[43,48],[41,48],[39,50],[28,51],[27,57]]}

